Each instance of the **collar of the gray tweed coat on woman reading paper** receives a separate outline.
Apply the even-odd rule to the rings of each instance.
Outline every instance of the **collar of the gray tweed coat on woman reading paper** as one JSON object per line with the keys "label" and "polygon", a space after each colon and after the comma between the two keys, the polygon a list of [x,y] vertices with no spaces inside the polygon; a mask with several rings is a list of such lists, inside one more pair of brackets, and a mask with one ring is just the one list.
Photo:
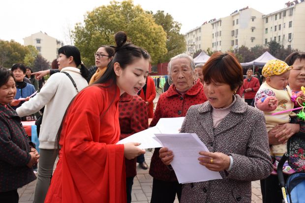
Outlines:
{"label": "collar of the gray tweed coat on woman reading paper", "polygon": [[[244,114],[247,110],[247,103],[243,101],[240,95],[236,94],[234,95],[236,97],[236,102],[233,104],[232,109],[230,112],[234,112],[237,114]],[[206,112],[212,112],[213,107],[211,106],[210,102],[205,102],[199,107],[199,113],[206,113]]]}

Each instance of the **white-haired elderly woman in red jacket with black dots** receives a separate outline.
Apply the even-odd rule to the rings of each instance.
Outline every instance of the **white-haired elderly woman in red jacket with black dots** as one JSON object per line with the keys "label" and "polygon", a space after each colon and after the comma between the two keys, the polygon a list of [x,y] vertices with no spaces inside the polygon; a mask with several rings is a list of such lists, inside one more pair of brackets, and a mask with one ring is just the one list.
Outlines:
{"label": "white-haired elderly woman in red jacket with black dots", "polygon": [[[203,85],[195,76],[193,58],[186,54],[177,55],[171,58],[168,67],[173,84],[160,95],[150,126],[156,125],[160,118],[183,117],[190,106],[207,101]],[[151,203],[173,203],[176,194],[179,200],[181,198],[181,184],[175,172],[161,162],[159,149],[155,148],[150,167],[153,177]]]}

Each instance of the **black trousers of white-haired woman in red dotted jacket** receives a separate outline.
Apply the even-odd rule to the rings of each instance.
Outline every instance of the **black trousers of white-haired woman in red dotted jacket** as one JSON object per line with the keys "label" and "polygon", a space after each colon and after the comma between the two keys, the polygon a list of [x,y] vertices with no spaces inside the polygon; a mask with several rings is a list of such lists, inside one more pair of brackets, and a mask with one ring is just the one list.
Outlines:
{"label": "black trousers of white-haired woman in red dotted jacket", "polygon": [[182,184],[153,178],[151,203],[173,203],[178,196],[181,200]]}

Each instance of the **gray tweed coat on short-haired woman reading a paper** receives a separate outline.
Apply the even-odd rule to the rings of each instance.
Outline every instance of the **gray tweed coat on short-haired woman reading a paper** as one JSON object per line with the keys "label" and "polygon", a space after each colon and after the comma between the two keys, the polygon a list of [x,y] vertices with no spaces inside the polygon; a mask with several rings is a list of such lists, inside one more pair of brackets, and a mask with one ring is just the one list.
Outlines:
{"label": "gray tweed coat on short-haired woman reading a paper", "polygon": [[211,152],[232,155],[233,167],[220,172],[223,179],[183,184],[182,203],[251,203],[251,181],[271,174],[264,114],[236,99],[215,129],[209,102],[189,108],[181,132],[196,133]]}

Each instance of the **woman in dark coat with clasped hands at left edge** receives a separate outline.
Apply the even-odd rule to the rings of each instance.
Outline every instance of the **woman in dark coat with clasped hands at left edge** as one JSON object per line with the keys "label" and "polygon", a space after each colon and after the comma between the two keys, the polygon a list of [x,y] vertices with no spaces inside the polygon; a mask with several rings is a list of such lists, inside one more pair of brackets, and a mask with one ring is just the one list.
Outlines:
{"label": "woman in dark coat with clasped hands at left edge", "polygon": [[32,166],[39,155],[8,105],[16,91],[13,74],[0,68],[0,203],[18,203],[17,189],[36,179]]}

